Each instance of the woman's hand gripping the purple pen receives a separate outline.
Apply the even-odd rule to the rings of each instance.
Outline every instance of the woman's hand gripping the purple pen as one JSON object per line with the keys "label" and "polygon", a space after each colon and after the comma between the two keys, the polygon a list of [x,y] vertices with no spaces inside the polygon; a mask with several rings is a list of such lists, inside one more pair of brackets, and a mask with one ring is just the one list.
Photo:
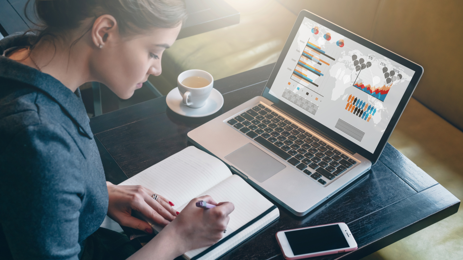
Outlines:
{"label": "woman's hand gripping the purple pen", "polygon": [[[211,209],[202,209],[196,206],[196,202],[204,200],[208,204],[216,205]],[[163,232],[174,233],[181,238],[181,251],[210,246],[218,242],[224,235],[228,225],[228,216],[235,209],[231,202],[216,203],[211,196],[202,196],[191,200],[180,214],[167,225]]]}

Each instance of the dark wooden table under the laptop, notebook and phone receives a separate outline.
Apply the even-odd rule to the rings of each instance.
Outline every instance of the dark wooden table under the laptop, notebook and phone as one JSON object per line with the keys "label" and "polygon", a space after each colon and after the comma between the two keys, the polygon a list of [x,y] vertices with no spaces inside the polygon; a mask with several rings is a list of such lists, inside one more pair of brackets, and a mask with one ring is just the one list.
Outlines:
{"label": "dark wooden table under the laptop, notebook and phone", "polygon": [[[188,131],[259,96],[274,64],[214,82],[223,108],[206,118],[172,112],[159,97],[90,120],[106,172],[115,184],[182,150]],[[276,203],[275,203],[276,204]],[[282,260],[279,230],[345,222],[358,249],[314,259],[360,259],[457,212],[460,201],[423,170],[387,145],[362,178],[306,216],[279,206],[280,219],[220,259]]]}

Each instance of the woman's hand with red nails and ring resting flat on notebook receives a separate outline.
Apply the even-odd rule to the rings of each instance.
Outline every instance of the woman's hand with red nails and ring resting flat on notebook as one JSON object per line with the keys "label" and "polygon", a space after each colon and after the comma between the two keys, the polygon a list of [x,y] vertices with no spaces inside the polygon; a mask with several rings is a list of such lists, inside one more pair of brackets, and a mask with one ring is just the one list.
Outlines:
{"label": "woman's hand with red nails and ring resting flat on notebook", "polygon": [[176,211],[169,205],[169,200],[158,195],[154,200],[154,192],[137,186],[118,186],[106,181],[109,194],[108,217],[122,226],[153,233],[147,222],[132,217],[132,210],[138,211],[154,223],[165,226],[177,216]]}

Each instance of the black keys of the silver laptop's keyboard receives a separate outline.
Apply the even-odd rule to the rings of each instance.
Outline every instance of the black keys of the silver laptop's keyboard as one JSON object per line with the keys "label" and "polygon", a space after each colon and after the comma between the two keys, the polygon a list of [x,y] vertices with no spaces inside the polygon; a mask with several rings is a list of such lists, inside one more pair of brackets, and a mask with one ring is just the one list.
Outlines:
{"label": "black keys of the silver laptop's keyboard", "polygon": [[357,163],[263,104],[227,123],[322,185]]}

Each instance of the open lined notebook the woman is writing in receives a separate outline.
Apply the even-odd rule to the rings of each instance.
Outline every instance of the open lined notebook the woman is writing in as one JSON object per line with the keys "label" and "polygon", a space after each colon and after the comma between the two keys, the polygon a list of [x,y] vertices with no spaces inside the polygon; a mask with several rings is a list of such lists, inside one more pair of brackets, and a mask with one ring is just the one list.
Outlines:
{"label": "open lined notebook the woman is writing in", "polygon": [[[223,238],[210,247],[183,254],[188,260],[214,260],[279,218],[278,208],[246,183],[232,175],[216,157],[189,146],[156,163],[119,185],[143,185],[172,201],[181,212],[190,200],[211,195],[216,202],[231,201],[235,210]],[[154,230],[161,227],[150,223]]]}

